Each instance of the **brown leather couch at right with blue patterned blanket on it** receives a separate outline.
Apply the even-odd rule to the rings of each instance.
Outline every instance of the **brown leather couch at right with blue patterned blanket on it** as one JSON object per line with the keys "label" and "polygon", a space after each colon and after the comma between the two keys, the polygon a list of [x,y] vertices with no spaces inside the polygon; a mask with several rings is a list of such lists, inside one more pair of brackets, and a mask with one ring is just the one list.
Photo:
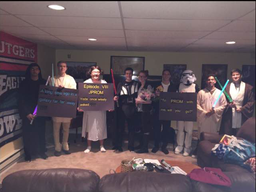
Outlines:
{"label": "brown leather couch at right with blue patterned blanket on it", "polygon": [[[198,145],[198,166],[220,168],[223,172],[235,172],[238,180],[247,185],[248,191],[255,191],[255,174],[245,168],[235,164],[226,164],[216,156],[212,156],[211,150],[215,144],[219,143],[223,135],[202,132]],[[237,138],[246,139],[255,143],[255,117],[251,117],[241,126],[237,133]],[[234,174],[235,176],[235,174]],[[244,185],[237,186],[238,189],[245,190]]]}

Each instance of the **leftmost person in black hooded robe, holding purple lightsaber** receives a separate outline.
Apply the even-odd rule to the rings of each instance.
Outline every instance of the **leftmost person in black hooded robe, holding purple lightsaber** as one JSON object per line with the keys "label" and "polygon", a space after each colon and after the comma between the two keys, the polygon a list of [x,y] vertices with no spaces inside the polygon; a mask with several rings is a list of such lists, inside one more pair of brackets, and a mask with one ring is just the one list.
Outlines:
{"label": "leftmost person in black hooded robe, holding purple lightsaber", "polygon": [[[22,136],[25,152],[25,161],[30,162],[32,154],[39,154],[47,159],[45,154],[45,117],[36,117],[33,111],[36,108],[40,85],[46,80],[42,78],[40,66],[32,63],[26,69],[25,80],[19,88],[18,110],[22,119]],[[33,124],[30,122],[34,120]]]}

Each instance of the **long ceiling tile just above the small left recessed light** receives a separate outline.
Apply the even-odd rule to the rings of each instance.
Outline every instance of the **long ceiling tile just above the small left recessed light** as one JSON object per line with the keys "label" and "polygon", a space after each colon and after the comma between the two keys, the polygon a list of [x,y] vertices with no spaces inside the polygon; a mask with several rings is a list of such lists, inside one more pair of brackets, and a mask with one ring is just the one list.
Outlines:
{"label": "long ceiling tile just above the small left recessed light", "polygon": [[44,27],[41,27],[41,29],[52,35],[60,36],[124,37],[123,30]]}

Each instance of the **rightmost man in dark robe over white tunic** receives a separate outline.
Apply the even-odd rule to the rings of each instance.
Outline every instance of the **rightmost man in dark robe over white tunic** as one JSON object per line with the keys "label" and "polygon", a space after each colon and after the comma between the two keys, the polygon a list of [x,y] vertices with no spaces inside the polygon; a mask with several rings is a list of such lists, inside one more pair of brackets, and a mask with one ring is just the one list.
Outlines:
{"label": "rightmost man in dark robe over white tunic", "polygon": [[236,136],[242,124],[253,115],[254,96],[253,87],[242,82],[239,69],[233,69],[230,75],[233,82],[227,85],[226,91],[233,101],[228,102],[223,114],[220,133]]}

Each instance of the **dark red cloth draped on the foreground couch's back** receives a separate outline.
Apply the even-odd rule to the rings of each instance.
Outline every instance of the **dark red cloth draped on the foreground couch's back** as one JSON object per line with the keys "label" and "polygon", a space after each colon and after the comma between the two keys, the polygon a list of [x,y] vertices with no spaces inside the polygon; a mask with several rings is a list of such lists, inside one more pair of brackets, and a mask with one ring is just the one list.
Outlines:
{"label": "dark red cloth draped on the foreground couch's back", "polygon": [[199,169],[193,169],[189,174],[187,174],[191,179],[222,186],[231,186],[231,181],[226,176],[221,169],[205,167]]}

